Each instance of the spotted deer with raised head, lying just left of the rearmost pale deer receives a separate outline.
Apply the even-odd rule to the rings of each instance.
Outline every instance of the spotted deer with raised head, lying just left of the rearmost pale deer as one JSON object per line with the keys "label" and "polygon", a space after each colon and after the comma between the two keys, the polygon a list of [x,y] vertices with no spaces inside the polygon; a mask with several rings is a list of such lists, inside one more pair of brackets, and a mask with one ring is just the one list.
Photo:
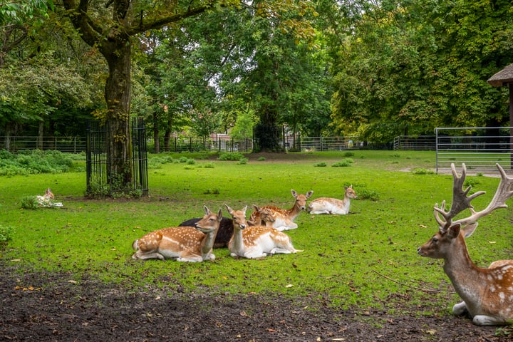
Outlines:
{"label": "spotted deer with raised head, lying just left of the rearmost pale deer", "polygon": [[[314,191],[310,190],[306,192],[305,195],[298,194],[294,189],[291,190],[291,194],[294,197],[294,206],[291,209],[281,209],[279,207],[274,207],[270,205],[265,205],[261,208],[271,209],[274,214],[274,222],[269,225],[269,227],[276,228],[280,231],[296,229],[298,225],[294,222],[294,219],[298,217],[301,213],[301,210],[306,209],[306,199],[309,199]],[[257,223],[257,211],[252,212],[251,217],[249,217],[249,221]]]}

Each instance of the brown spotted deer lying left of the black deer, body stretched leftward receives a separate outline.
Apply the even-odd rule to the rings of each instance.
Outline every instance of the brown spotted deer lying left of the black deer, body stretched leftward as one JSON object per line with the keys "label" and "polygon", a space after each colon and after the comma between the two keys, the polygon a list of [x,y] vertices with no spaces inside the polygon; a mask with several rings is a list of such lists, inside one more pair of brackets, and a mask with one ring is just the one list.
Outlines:
{"label": "brown spotted deer lying left of the black deer, body stretched leftward", "polygon": [[212,247],[222,219],[205,206],[205,215],[195,227],[172,227],[150,232],[133,242],[133,259],[176,259],[177,261],[214,261]]}

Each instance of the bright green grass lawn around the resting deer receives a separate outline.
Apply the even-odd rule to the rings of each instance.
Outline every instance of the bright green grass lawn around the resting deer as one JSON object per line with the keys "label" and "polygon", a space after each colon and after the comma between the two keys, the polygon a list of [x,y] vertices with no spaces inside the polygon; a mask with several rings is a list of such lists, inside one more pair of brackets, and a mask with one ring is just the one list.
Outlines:
{"label": "bright green grass lawn around the resting deer", "polygon": [[[86,199],[81,161],[74,172],[1,177],[0,225],[14,229],[0,247],[1,269],[58,272],[63,281],[77,284],[92,276],[128,289],[313,296],[328,305],[389,310],[408,301],[419,304],[420,314],[449,312],[457,296],[442,262],[419,257],[416,250],[437,229],[433,205],[452,199],[452,176],[425,172],[435,166],[434,152],[356,151],[349,157],[349,167],[331,166],[348,158],[343,152],[289,154],[283,160],[250,157],[242,165],[212,159],[195,165],[169,162],[148,171],[150,196],[140,199]],[[326,167],[316,166],[323,162]],[[484,208],[499,179],[476,175],[467,180],[474,190],[487,191],[473,202],[476,209]],[[294,202],[291,189],[314,190],[312,199],[341,198],[344,185],[361,195],[351,202],[350,214],[304,212],[296,219],[299,228],[286,232],[294,247],[304,250],[299,254],[247,260],[216,249],[215,261],[199,264],[131,259],[134,239],[202,216],[203,205],[222,208],[225,215],[224,204],[288,209]],[[21,209],[23,197],[43,195],[46,187],[64,207]],[[477,264],[511,258],[511,217],[507,208],[480,220],[467,242]],[[45,280],[23,285],[43,287]],[[430,307],[421,305],[426,299]]]}

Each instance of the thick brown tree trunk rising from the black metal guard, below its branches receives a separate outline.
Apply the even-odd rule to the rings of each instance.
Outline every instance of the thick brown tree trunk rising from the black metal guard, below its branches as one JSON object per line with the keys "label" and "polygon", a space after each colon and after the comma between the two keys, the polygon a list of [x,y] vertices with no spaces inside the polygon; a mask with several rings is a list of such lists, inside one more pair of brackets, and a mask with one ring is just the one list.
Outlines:
{"label": "thick brown tree trunk rising from the black metal guard, below its branches", "polygon": [[117,32],[100,48],[107,59],[109,75],[105,83],[108,128],[108,180],[115,190],[130,189],[133,179],[130,135],[130,56],[128,36]]}

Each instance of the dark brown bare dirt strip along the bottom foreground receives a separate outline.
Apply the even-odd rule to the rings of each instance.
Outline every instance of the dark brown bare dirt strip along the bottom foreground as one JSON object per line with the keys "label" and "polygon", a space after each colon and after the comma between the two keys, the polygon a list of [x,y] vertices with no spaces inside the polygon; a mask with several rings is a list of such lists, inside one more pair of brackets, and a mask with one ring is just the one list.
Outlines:
{"label": "dark brown bare dirt strip along the bottom foreground", "polygon": [[1,267],[0,341],[513,341],[511,328],[497,335],[467,318],[408,314],[419,306],[389,314],[336,309],[314,296],[170,294],[70,279]]}

